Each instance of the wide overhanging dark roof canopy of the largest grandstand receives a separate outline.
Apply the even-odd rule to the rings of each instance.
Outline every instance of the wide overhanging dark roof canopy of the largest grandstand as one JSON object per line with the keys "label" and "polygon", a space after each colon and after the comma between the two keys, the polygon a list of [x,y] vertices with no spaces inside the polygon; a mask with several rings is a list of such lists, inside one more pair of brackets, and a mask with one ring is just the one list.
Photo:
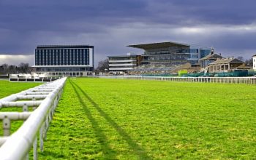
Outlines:
{"label": "wide overhanging dark roof canopy of the largest grandstand", "polygon": [[129,45],[127,47],[134,47],[134,48],[139,48],[139,49],[159,49],[159,48],[167,48],[167,47],[189,47],[189,44],[178,44],[176,42],[161,42],[161,43],[153,43],[153,44],[135,44],[135,45]]}

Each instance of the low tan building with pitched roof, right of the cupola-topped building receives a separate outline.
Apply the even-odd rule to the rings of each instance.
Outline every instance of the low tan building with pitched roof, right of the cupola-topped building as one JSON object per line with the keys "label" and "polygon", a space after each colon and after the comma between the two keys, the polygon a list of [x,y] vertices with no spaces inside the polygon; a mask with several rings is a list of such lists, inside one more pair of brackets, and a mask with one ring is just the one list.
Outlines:
{"label": "low tan building with pitched roof, right of the cupola-topped building", "polygon": [[213,63],[210,63],[208,66],[208,71],[211,73],[226,72],[234,70],[243,64],[244,62],[238,60],[237,58],[224,58],[221,60],[216,60]]}

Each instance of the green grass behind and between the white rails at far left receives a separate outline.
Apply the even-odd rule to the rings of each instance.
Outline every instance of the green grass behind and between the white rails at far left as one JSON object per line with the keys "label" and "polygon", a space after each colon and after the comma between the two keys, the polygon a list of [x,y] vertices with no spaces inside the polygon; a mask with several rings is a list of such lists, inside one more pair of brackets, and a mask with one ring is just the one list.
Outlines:
{"label": "green grass behind and between the white rails at far left", "polygon": [[[0,81],[0,99],[3,97],[7,97],[8,95],[12,95],[18,92],[21,92],[23,90],[36,87],[40,83],[21,83],[21,82],[10,82],[10,81],[5,81],[1,80]],[[31,108],[29,108],[31,111]],[[22,108],[0,108],[0,112],[5,112],[5,111],[19,111],[22,112]],[[0,124],[2,125],[2,121],[0,120]],[[23,124],[23,121],[12,121],[11,124],[11,133],[15,132],[20,125]],[[3,135],[3,128],[0,127],[0,136]]]}

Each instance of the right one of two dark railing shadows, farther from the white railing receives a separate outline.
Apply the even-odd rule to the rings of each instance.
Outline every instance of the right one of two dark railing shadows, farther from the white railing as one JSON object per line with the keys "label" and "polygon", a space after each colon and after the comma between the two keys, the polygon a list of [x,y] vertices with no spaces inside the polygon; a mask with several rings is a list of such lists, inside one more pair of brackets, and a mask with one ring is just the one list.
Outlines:
{"label": "right one of two dark railing shadows, farther from the white railing", "polygon": [[[70,80],[69,80],[70,81]],[[97,111],[100,113],[100,115],[102,117],[104,117],[106,119],[106,121],[108,121],[108,123],[110,124],[110,126],[112,126],[114,129],[116,129],[116,131],[118,132],[119,135],[121,135],[121,137],[124,138],[124,140],[127,142],[127,144],[129,145],[130,148],[132,148],[132,150],[134,151],[134,153],[139,157],[139,159],[151,159],[151,157],[149,157],[146,153],[146,151],[143,150],[143,148],[140,147],[140,145],[138,145],[137,143],[135,143],[134,140],[132,140],[132,137],[130,137],[127,132],[124,131],[124,129],[122,129],[120,126],[118,126],[118,124],[116,124],[115,121],[113,121],[113,119],[110,118],[110,116],[108,116],[107,113],[105,113],[105,111],[102,111],[102,108],[99,107],[99,105],[97,105],[97,103],[94,102],[94,100],[91,99],[91,97],[89,97],[89,95],[86,94],[86,92],[83,91],[83,89],[81,89],[78,84],[73,83],[72,81],[70,81],[70,83],[72,84],[72,86],[75,85],[75,87],[77,87],[80,92],[83,93],[83,95],[89,100],[89,102],[94,106],[94,108],[97,109]],[[74,87],[74,88],[75,88]],[[76,91],[77,92],[77,91]],[[79,96],[80,99],[80,96]],[[85,104],[84,104],[85,105]]]}

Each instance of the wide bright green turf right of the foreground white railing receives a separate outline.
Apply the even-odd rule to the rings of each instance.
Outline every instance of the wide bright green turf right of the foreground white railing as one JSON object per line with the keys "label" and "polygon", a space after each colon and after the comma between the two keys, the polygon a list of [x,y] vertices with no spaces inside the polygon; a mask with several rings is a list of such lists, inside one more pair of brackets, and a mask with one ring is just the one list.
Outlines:
{"label": "wide bright green turf right of the foreground white railing", "polygon": [[39,159],[254,159],[255,90],[69,79]]}

